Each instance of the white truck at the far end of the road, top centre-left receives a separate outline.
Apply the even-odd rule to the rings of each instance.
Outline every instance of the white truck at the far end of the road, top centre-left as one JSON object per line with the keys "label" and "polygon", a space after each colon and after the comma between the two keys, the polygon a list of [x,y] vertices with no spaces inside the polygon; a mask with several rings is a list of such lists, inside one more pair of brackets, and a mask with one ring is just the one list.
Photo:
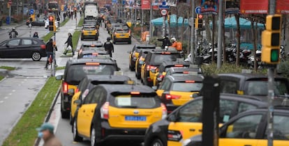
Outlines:
{"label": "white truck at the far end of the road, top centre-left", "polygon": [[98,17],[98,5],[93,1],[84,2],[84,18]]}

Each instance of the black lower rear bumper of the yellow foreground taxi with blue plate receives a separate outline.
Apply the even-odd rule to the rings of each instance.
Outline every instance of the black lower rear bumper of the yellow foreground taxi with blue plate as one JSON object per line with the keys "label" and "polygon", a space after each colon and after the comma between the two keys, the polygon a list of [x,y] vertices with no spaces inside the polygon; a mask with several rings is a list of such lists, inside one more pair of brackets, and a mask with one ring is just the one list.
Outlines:
{"label": "black lower rear bumper of the yellow foreground taxi with blue plate", "polygon": [[102,140],[144,140],[146,129],[112,128],[107,121],[101,123]]}

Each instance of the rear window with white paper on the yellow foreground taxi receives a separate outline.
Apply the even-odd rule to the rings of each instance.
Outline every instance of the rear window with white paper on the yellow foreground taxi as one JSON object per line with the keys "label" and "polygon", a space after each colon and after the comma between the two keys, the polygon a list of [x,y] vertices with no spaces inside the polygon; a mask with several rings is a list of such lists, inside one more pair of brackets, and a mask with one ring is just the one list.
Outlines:
{"label": "rear window with white paper on the yellow foreground taxi", "polygon": [[156,96],[117,95],[112,98],[112,106],[117,108],[157,108],[161,101]]}

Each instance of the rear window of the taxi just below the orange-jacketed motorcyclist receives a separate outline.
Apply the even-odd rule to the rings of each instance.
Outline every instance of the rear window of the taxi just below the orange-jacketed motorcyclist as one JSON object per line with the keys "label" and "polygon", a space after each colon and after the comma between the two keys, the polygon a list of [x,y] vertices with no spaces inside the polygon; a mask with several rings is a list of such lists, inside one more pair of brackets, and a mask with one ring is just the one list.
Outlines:
{"label": "rear window of the taxi just below the orange-jacketed motorcyclist", "polygon": [[181,58],[179,54],[156,54],[152,56],[153,62],[151,64],[161,65],[163,61],[175,61],[177,58]]}

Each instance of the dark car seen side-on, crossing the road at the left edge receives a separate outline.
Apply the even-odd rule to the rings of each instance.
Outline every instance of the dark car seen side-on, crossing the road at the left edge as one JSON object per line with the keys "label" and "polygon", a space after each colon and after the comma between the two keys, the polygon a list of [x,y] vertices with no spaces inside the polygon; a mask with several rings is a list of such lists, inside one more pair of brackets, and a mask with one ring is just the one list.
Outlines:
{"label": "dark car seen side-on, crossing the road at the left edge", "polygon": [[0,43],[0,58],[32,58],[34,61],[46,57],[45,43],[38,38],[12,38]]}

